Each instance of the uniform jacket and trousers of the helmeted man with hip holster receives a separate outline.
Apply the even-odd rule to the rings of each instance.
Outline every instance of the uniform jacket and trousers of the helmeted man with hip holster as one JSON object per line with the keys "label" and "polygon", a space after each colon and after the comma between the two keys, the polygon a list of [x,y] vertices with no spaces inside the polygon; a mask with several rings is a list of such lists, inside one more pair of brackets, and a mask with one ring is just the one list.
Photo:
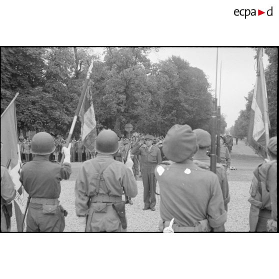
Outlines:
{"label": "uniform jacket and trousers of the helmeted man with hip holster", "polygon": [[88,215],[86,231],[126,231],[112,207],[122,201],[123,190],[130,197],[136,196],[136,181],[132,172],[112,155],[97,154],[82,164],[74,188],[75,212],[78,217]]}

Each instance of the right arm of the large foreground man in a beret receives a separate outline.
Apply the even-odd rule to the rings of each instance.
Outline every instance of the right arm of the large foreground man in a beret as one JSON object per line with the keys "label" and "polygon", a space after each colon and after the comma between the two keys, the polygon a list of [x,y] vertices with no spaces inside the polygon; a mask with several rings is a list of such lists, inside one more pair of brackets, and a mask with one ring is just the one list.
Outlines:
{"label": "right arm of the large foreground man in a beret", "polygon": [[207,215],[209,225],[213,231],[224,231],[224,223],[226,221],[226,211],[224,209],[224,201],[221,187],[214,175],[210,184],[211,197],[207,205]]}

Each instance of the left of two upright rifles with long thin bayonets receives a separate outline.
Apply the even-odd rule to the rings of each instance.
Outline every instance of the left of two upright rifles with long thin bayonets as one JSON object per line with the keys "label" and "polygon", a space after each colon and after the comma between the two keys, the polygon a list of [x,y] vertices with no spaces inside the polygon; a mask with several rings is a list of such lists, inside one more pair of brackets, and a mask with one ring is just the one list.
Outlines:
{"label": "left of two upright rifles with long thin bayonets", "polygon": [[216,173],[216,128],[217,128],[217,69],[218,69],[218,47],[216,54],[216,82],[215,97],[213,98],[213,111],[211,116],[211,151],[210,151],[210,170]]}

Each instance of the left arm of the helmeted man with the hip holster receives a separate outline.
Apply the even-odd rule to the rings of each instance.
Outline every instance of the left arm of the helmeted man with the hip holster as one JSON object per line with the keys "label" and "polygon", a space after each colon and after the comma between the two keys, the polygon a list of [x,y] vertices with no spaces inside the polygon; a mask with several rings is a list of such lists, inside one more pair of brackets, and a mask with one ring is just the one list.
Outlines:
{"label": "left arm of the helmeted man with the hip holster", "polygon": [[75,180],[75,213],[77,217],[85,217],[88,214],[88,180],[87,173],[82,165]]}

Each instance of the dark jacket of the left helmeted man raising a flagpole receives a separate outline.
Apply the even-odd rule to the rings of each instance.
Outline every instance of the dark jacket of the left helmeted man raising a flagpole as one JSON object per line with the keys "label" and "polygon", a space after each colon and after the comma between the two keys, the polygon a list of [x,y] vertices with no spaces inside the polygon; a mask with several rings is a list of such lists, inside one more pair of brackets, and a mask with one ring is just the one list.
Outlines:
{"label": "dark jacket of the left helmeted man raising a flagpole", "polygon": [[36,155],[32,161],[23,164],[19,180],[31,197],[58,198],[60,181],[68,179],[70,174],[70,163],[61,165]]}

